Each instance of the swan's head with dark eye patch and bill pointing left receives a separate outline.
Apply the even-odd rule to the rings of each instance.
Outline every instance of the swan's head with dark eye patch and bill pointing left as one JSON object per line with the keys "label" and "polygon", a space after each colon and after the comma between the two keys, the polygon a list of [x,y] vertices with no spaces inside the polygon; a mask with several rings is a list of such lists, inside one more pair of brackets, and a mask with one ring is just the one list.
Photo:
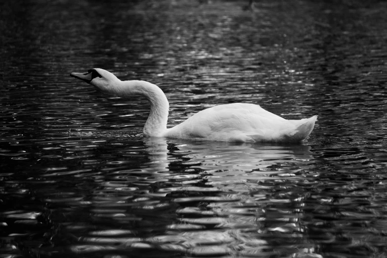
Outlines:
{"label": "swan's head with dark eye patch and bill pointing left", "polygon": [[87,73],[71,73],[70,76],[85,81],[105,93],[117,92],[118,84],[121,82],[114,74],[100,68],[90,69]]}

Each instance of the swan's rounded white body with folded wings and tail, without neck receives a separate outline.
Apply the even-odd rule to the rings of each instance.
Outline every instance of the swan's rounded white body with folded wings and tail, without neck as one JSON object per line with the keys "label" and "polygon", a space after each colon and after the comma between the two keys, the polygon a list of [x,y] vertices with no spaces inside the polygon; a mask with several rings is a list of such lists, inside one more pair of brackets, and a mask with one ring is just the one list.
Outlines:
{"label": "swan's rounded white body with folded wings and tail, without neck", "polygon": [[301,141],[313,130],[316,119],[286,120],[259,105],[233,103],[202,110],[168,129],[165,136],[212,141]]}

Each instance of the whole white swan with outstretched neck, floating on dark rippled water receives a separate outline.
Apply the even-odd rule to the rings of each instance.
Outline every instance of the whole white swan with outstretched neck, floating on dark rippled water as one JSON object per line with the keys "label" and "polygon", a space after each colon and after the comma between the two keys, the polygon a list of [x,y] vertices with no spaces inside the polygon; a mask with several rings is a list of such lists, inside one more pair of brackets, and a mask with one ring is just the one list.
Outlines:
{"label": "whole white swan with outstretched neck, floating on dark rippled water", "polygon": [[122,97],[141,95],[150,102],[143,129],[149,137],[228,142],[298,142],[314,128],[317,116],[286,120],[259,105],[232,103],[204,109],[181,124],[167,128],[169,103],[164,92],[146,81],[121,81],[112,73],[94,68],[87,73],[71,73],[102,92]]}

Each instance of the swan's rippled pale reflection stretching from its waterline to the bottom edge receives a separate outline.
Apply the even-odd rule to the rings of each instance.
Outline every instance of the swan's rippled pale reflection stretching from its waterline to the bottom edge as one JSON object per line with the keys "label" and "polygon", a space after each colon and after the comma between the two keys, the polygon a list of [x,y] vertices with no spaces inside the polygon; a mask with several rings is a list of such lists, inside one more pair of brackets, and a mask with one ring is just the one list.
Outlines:
{"label": "swan's rippled pale reflection stretching from its waterline to the bottom edge", "polygon": [[169,170],[158,191],[170,194],[177,205],[172,212],[177,217],[165,225],[168,231],[144,242],[188,254],[240,250],[240,255],[250,256],[262,246],[270,250],[273,234],[275,241],[303,234],[309,195],[303,184],[309,187],[314,180],[302,172],[313,160],[305,143],[162,138],[146,138],[144,143],[153,165],[149,169]]}

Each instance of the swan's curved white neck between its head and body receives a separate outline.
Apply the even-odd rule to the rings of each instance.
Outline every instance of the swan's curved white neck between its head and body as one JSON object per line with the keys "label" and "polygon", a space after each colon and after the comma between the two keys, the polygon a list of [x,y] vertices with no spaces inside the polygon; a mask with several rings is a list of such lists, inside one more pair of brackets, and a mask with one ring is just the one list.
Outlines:
{"label": "swan's curved white neck between its head and body", "polygon": [[145,81],[124,81],[119,88],[122,90],[120,95],[141,95],[149,100],[150,113],[144,126],[144,136],[163,136],[167,131],[170,105],[161,88]]}

